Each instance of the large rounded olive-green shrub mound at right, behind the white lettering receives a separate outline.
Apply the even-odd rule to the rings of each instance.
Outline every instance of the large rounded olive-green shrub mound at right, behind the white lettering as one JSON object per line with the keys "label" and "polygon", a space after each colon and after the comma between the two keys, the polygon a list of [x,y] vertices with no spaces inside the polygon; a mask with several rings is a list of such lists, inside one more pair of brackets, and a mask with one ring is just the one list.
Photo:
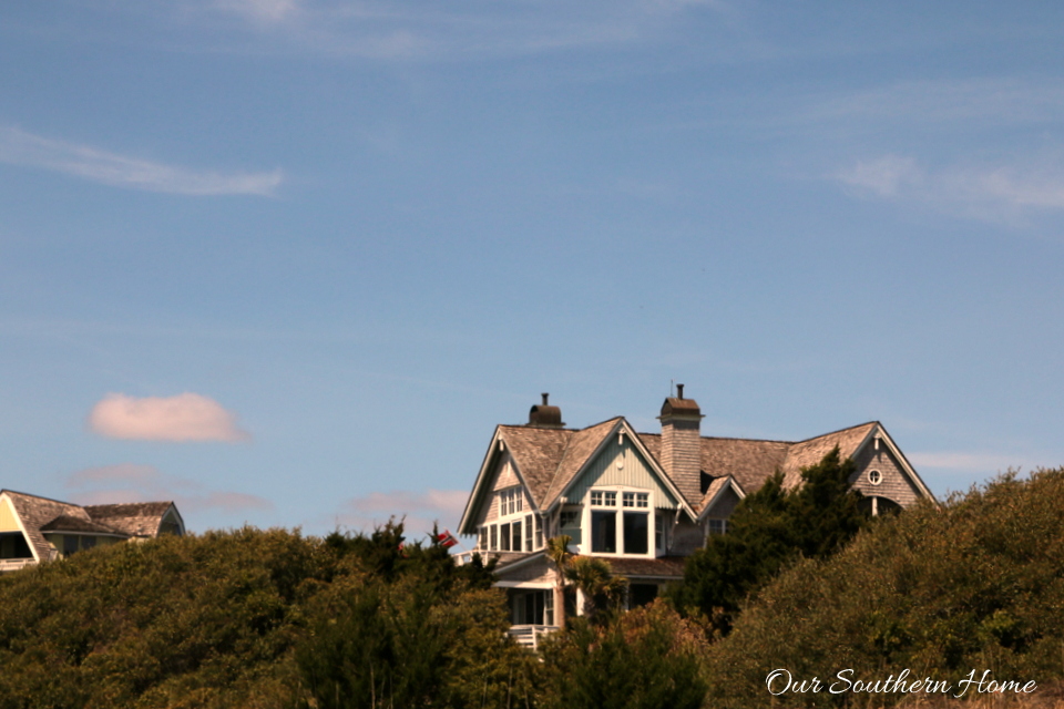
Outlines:
{"label": "large rounded olive-green shrub mound at right, behind the white lettering", "polygon": [[[765,703],[766,676],[958,686],[972,669],[1045,686],[1064,676],[1064,469],[1006,475],[876,524],[764,589],[709,653],[713,703]],[[846,696],[836,696],[841,702]],[[827,692],[780,697],[823,705]],[[901,697],[884,697],[893,703]]]}

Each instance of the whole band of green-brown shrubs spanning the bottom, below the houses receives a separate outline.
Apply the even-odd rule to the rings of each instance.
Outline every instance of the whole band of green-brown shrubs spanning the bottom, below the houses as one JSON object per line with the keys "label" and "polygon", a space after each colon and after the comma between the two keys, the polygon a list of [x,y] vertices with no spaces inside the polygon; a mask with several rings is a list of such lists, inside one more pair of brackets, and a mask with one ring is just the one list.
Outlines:
{"label": "whole band of green-brown shrubs spanning the bottom, below the houses", "polygon": [[[802,553],[720,625],[665,602],[575,619],[536,657],[507,637],[491,569],[401,525],[326,538],[270,530],[121,544],[0,577],[0,709],[116,707],[953,706],[944,696],[788,692],[796,680],[954,686],[971,670],[1064,678],[1064,470],[877,520]],[[969,692],[970,707],[1001,706]]]}

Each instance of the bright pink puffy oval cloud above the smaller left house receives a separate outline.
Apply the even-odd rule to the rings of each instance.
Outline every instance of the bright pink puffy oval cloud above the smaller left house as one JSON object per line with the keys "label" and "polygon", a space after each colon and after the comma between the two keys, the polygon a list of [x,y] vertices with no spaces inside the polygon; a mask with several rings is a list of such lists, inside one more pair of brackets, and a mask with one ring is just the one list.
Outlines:
{"label": "bright pink puffy oval cloud above the smaller left house", "polygon": [[89,428],[111,439],[141,441],[224,441],[250,439],[236,414],[202,394],[136,399],[110,393],[89,413]]}

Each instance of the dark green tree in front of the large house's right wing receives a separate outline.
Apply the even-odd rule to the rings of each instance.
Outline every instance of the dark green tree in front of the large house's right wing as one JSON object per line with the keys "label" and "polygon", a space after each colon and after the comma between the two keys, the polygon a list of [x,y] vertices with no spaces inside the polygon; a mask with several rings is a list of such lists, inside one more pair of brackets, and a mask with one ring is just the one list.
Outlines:
{"label": "dark green tree in front of the large house's right wing", "polygon": [[672,589],[676,606],[702,613],[727,633],[751,592],[797,558],[825,558],[867,523],[861,494],[850,490],[853,461],[836,448],[801,472],[802,485],[784,491],[777,473],[747,495],[728,520],[728,533],[709,537],[688,557],[684,582]]}

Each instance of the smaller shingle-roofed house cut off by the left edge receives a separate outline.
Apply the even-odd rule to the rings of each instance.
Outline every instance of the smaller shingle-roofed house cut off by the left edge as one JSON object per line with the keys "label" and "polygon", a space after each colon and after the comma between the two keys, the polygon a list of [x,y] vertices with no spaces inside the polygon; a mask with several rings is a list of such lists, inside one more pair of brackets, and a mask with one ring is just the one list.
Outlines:
{"label": "smaller shingle-roofed house cut off by the left edge", "polygon": [[94,546],[184,533],[185,523],[172,502],[81,506],[0,490],[0,572]]}

